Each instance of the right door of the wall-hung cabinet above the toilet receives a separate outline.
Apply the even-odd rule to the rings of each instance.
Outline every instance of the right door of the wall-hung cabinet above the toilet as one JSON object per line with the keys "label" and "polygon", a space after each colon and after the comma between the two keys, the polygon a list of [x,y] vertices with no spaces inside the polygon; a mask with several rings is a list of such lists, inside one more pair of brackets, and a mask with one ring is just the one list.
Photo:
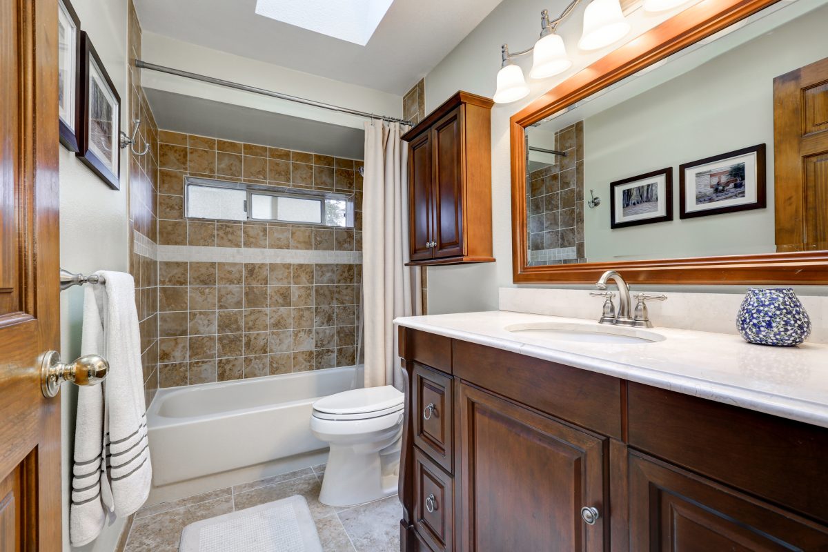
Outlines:
{"label": "right door of the wall-hung cabinet above the toilet", "polygon": [[448,113],[431,127],[434,142],[434,257],[463,255],[463,111]]}

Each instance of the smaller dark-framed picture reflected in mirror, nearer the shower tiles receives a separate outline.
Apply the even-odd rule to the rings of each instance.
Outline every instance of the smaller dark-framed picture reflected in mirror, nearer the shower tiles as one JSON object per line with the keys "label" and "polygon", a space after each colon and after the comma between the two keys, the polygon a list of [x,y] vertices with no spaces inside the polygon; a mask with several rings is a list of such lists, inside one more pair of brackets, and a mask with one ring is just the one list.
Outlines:
{"label": "smaller dark-framed picture reflected in mirror, nearer the shower tiles", "polygon": [[609,228],[672,220],[672,167],[609,184]]}

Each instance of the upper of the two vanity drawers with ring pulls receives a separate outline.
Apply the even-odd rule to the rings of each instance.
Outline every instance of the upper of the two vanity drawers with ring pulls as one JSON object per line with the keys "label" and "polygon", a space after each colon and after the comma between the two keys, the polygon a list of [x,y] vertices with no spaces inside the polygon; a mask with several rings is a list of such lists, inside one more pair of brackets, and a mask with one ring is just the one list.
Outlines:
{"label": "upper of the two vanity drawers with ring pulls", "polygon": [[445,471],[453,472],[454,408],[451,378],[414,364],[414,443]]}

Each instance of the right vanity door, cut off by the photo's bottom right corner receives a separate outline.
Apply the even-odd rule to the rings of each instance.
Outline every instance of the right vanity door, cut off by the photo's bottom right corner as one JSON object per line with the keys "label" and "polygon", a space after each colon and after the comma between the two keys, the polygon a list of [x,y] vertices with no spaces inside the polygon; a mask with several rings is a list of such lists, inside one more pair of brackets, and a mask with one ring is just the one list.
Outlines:
{"label": "right vanity door, cut off by the photo's bottom right corner", "polygon": [[637,452],[629,501],[629,550],[828,550],[826,527]]}

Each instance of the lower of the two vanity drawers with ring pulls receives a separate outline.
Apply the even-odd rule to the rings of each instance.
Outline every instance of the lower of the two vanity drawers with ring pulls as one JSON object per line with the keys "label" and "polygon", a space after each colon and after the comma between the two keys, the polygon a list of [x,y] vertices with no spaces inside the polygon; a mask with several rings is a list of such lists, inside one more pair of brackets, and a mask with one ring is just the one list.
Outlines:
{"label": "lower of the two vanity drawers with ring pulls", "polygon": [[454,550],[454,480],[414,449],[414,527],[435,552]]}

